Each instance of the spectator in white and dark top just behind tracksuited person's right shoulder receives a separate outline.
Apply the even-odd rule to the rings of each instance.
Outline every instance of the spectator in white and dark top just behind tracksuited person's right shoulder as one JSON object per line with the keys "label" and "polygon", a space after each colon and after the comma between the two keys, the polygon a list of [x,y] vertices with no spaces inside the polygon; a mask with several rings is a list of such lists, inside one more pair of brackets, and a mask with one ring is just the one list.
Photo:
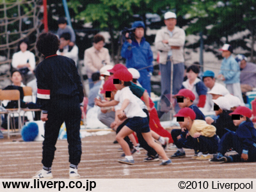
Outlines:
{"label": "spectator in white and dark top just behind tracksuited person's right shoulder", "polygon": [[77,45],[69,46],[71,40],[70,33],[63,33],[60,36],[60,49],[57,51],[58,55],[66,56],[75,61],[77,66],[78,61],[78,47]]}

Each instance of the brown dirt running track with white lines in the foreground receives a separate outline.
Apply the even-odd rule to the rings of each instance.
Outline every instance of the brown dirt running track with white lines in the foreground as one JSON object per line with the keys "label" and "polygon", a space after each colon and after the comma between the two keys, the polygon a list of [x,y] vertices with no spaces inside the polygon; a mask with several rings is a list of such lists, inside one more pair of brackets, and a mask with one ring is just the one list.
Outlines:
{"label": "brown dirt running track with white lines in the foreground", "polygon": [[[28,179],[42,168],[42,142],[20,142],[0,140],[0,179]],[[113,144],[115,132],[104,136],[83,138],[83,155],[79,164],[79,173],[83,179],[229,179],[255,178],[256,163],[209,164],[208,161],[191,159],[192,150],[186,151],[186,158],[172,160],[171,166],[159,166],[158,162],[143,162],[145,150],[134,156],[135,164],[129,166],[117,163],[121,152],[118,144]],[[52,165],[54,178],[68,178],[67,140],[58,140],[55,159]],[[177,149],[166,150],[171,156]]]}

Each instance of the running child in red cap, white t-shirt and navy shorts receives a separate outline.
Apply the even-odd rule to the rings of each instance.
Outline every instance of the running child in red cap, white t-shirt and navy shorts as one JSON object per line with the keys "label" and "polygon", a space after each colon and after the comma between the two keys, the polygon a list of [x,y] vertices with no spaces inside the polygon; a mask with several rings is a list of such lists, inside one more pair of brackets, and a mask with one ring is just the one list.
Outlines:
{"label": "running child in red cap, white t-shirt and navy shorts", "polygon": [[[129,88],[131,80],[132,74],[127,69],[117,70],[114,73],[114,84],[118,91],[115,94],[115,100],[108,103],[109,106],[111,106],[120,102],[122,107],[116,111],[116,114],[118,118],[124,118],[124,116],[128,118],[127,124],[125,124],[121,131],[116,135],[116,141],[118,141],[122,146],[125,153],[125,158],[119,159],[118,163],[134,164],[134,159],[131,156],[131,150],[124,138],[132,132],[136,132],[137,134],[141,134],[147,144],[154,148],[159,156],[162,157],[163,161],[160,165],[172,164],[172,161],[166,156],[163,148],[153,140],[150,134],[147,114],[138,104],[138,97],[133,95]],[[95,102],[98,106],[108,106],[108,104],[100,104],[99,100],[95,100]]]}

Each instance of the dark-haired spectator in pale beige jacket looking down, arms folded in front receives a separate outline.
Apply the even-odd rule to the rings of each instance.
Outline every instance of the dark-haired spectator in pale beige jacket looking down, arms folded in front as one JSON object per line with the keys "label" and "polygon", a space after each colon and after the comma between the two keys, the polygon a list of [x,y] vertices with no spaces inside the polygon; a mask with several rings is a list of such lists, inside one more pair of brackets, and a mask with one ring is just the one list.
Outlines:
{"label": "dark-haired spectator in pale beige jacket looking down, arms folded in front", "polygon": [[92,74],[98,72],[104,65],[110,65],[109,51],[104,47],[104,36],[93,36],[93,46],[84,51],[84,66],[89,80],[90,89],[93,87]]}

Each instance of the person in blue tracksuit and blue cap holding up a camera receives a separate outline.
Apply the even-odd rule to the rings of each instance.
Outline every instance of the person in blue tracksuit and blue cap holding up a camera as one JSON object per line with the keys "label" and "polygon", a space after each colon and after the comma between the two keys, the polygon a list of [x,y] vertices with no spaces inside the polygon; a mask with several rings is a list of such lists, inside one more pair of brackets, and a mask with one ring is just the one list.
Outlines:
{"label": "person in blue tracksuit and blue cap holding up a camera", "polygon": [[[150,44],[144,37],[145,24],[142,21],[135,21],[132,24],[134,36],[124,42],[121,50],[121,56],[126,60],[127,68],[136,68],[140,72],[139,83],[145,88],[150,95],[151,83],[150,77],[153,68],[153,52]],[[125,35],[127,38],[129,33]]]}

